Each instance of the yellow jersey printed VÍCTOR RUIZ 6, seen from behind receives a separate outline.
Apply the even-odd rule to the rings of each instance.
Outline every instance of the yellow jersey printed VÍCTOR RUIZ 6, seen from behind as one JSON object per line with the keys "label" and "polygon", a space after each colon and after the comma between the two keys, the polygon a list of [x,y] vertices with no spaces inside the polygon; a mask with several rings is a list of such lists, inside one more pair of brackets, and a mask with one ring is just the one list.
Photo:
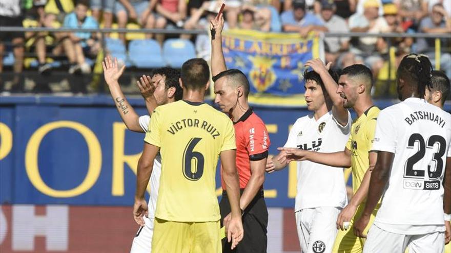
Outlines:
{"label": "yellow jersey printed V\u00cdCTOR RUIZ 6, seen from behind", "polygon": [[221,151],[236,149],[235,131],[226,114],[204,103],[177,101],[158,106],[144,141],[160,147],[155,217],[218,221],[216,165]]}

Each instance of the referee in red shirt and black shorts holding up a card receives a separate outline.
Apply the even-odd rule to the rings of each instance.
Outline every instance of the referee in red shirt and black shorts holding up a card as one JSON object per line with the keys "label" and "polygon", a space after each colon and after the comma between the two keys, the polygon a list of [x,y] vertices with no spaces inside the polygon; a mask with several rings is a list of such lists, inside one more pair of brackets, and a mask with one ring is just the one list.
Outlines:
{"label": "referee in red shirt and black shorts holding up a card", "polygon": [[[240,208],[243,213],[243,240],[235,250],[223,240],[222,252],[266,252],[268,209],[263,197],[265,165],[268,158],[270,139],[263,121],[248,104],[249,81],[239,70],[227,70],[222,54],[222,15],[212,20],[211,69],[213,75],[215,103],[223,112],[229,113],[235,128],[236,167],[240,183]],[[226,185],[222,181],[222,199],[219,203],[221,225],[230,219],[230,204]]]}

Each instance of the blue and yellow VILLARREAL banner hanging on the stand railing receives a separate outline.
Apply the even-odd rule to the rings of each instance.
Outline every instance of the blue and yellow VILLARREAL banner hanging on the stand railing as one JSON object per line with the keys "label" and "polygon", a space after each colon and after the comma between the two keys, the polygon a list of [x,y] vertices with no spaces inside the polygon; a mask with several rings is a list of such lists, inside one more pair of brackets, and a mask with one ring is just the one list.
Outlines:
{"label": "blue and yellow VILLARREAL banner hanging on the stand railing", "polygon": [[[312,58],[323,58],[322,44],[319,36],[302,39],[289,33],[229,30],[222,36],[227,67],[238,68],[248,76],[254,96],[250,101],[272,98],[278,100],[274,101],[277,104],[302,97],[304,64]],[[303,99],[296,99],[295,104],[300,102]]]}

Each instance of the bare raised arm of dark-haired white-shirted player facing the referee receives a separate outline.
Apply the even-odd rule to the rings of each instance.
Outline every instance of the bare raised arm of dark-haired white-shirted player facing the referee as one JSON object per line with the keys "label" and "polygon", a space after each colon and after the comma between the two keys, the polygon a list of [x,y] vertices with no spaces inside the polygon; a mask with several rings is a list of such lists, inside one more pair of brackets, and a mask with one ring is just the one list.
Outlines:
{"label": "bare raised arm of dark-haired white-shirted player facing the referee", "polygon": [[311,59],[305,63],[305,66],[309,66],[318,73],[321,77],[324,87],[332,100],[332,114],[334,118],[342,126],[346,126],[348,123],[349,112],[343,106],[343,98],[337,93],[338,84],[329,73],[331,62],[326,65],[320,59]]}

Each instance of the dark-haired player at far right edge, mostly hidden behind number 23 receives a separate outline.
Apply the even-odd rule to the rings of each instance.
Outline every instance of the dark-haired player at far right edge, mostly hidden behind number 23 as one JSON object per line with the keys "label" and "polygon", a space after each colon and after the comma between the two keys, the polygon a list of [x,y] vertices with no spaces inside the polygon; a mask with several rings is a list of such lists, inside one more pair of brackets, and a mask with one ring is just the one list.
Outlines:
{"label": "dark-haired player at far right edge, mostly hidden behind number 23", "polygon": [[[433,71],[430,78],[432,86],[426,87],[424,99],[429,103],[443,109],[446,97],[449,94],[451,84],[448,77],[441,71]],[[445,216],[445,253],[451,253],[451,157],[448,154],[446,157],[446,170],[444,180],[444,194],[443,194],[443,211]]]}

